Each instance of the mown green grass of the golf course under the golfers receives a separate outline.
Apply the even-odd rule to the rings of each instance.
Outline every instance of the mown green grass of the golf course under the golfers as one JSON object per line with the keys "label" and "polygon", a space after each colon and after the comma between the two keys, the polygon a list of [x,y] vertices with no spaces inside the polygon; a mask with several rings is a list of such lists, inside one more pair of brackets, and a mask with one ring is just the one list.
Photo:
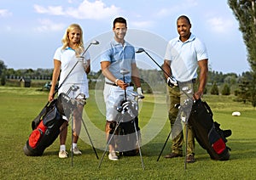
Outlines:
{"label": "mown green grass of the golf course under the golfers", "polygon": [[[89,124],[90,136],[95,143],[99,158],[104,148],[104,104],[96,100],[97,93],[90,92],[90,98],[84,107],[84,119]],[[99,95],[97,94],[97,97]],[[166,100],[164,94],[146,95],[140,104],[140,127],[143,141],[143,171],[139,156],[124,157],[118,161],[108,160],[107,155],[98,169],[90,143],[86,143],[86,134],[79,140],[81,156],[58,158],[59,139],[45,149],[40,157],[28,157],[23,153],[23,146],[32,132],[31,121],[47,103],[48,93],[36,88],[0,87],[0,179],[255,179],[256,164],[256,110],[251,104],[233,101],[232,96],[205,96],[213,111],[213,118],[224,129],[233,131],[227,145],[230,160],[210,160],[206,150],[196,143],[194,164],[188,164],[184,171],[183,158],[166,160],[161,157],[157,162],[160,150],[170,131],[166,121]],[[240,111],[241,116],[234,117],[233,111]],[[148,126],[149,124],[149,126]],[[98,128],[98,129],[96,129]],[[70,130],[69,130],[70,131]],[[82,132],[83,129],[82,129]],[[70,147],[71,134],[68,133],[67,148]],[[83,137],[83,136],[81,136]],[[101,140],[98,137],[102,138]],[[85,143],[84,143],[85,142]],[[99,143],[99,144],[98,144]],[[171,141],[166,145],[163,155],[170,153]]]}

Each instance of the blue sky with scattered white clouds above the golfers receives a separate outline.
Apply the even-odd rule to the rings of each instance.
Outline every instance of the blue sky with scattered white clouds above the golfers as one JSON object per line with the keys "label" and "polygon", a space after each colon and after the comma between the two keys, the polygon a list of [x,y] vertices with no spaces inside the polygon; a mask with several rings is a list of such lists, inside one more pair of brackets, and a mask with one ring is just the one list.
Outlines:
{"label": "blue sky with scattered white clouds above the golfers", "polygon": [[[250,70],[247,50],[238,22],[227,1],[204,0],[0,0],[0,59],[8,68],[53,68],[53,54],[61,46],[67,26],[78,23],[85,44],[92,39],[101,46],[90,47],[92,70],[102,46],[112,37],[117,16],[128,22],[127,41],[143,47],[161,65],[166,42],[177,37],[176,20],[188,15],[191,31],[207,46],[212,70],[224,73]],[[138,65],[157,69],[138,54]]]}

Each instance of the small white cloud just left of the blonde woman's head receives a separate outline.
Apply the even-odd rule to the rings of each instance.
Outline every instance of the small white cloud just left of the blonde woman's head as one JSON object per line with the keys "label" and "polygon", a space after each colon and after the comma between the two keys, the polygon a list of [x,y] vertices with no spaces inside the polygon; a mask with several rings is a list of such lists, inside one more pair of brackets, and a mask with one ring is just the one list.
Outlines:
{"label": "small white cloud just left of the blonde woman's head", "polygon": [[36,31],[62,31],[65,28],[64,24],[57,24],[51,20],[39,20],[39,23],[41,24],[37,28],[35,28]]}

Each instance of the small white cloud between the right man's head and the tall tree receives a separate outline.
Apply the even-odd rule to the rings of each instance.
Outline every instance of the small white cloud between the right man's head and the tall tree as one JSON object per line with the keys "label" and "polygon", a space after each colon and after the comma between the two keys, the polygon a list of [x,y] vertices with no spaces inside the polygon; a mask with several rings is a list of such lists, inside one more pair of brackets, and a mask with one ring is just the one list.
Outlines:
{"label": "small white cloud between the right man's head and the tall tree", "polygon": [[207,20],[208,26],[211,27],[211,31],[217,33],[225,33],[232,29],[234,25],[233,20],[224,20],[221,17],[213,17]]}

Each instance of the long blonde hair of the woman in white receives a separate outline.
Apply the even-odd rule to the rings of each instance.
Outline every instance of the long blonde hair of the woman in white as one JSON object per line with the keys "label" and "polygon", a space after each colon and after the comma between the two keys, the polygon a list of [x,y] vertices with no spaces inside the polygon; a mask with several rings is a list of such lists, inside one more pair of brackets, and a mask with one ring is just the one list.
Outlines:
{"label": "long blonde hair of the woman in white", "polygon": [[81,31],[79,43],[77,44],[77,47],[74,49],[76,52],[76,55],[79,55],[84,51],[84,40],[83,40],[83,30],[78,24],[72,24],[67,27],[67,30],[65,31],[65,34],[61,39],[61,42],[63,44],[62,49],[68,47],[68,44],[69,44],[68,33],[75,28],[78,28]]}

